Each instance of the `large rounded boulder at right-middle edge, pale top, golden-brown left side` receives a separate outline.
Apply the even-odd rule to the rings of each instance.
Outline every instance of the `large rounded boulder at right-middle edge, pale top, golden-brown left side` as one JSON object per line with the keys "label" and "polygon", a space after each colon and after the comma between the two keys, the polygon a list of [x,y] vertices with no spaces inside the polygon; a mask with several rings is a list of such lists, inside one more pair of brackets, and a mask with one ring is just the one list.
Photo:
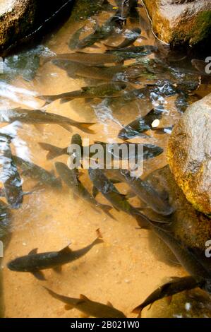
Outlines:
{"label": "large rounded boulder at right-middle edge, pale top, golden-brown left side", "polygon": [[168,155],[188,201],[211,217],[211,94],[188,107],[174,126]]}

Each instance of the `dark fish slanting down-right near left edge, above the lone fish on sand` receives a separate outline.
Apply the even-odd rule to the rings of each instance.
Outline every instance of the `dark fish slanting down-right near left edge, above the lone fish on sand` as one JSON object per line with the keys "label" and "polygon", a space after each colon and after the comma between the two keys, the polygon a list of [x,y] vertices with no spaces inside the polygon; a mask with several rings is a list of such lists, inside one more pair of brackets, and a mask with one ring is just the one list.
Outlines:
{"label": "dark fish slanting down-right near left edge, above the lone fish on sand", "polygon": [[61,189],[61,180],[56,178],[51,172],[44,170],[44,168],[23,160],[17,155],[12,156],[15,164],[22,170],[22,175],[30,177],[41,184],[52,186],[53,188]]}

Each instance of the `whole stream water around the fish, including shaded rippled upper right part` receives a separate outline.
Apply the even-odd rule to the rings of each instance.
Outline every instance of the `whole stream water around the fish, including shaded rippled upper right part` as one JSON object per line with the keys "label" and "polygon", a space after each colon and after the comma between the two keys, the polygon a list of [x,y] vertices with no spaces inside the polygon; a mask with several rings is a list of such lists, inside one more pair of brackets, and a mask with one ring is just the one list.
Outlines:
{"label": "whole stream water around the fish, including shaded rippled upper right part", "polygon": [[[163,149],[155,158],[144,161],[143,178],[146,177],[167,165],[169,134],[186,107],[211,93],[210,83],[203,83],[200,73],[191,64],[195,54],[193,56],[188,51],[169,52],[169,47],[163,45],[152,33],[145,8],[141,6],[137,8],[135,17],[128,18],[126,25],[115,28],[107,38],[77,51],[104,54],[110,49],[114,52],[112,47],[120,45],[128,35],[131,37],[134,34],[135,28],[140,28],[140,35],[128,47],[150,45],[147,48],[151,49],[150,52],[135,57],[129,55],[124,61],[104,64],[107,71],[102,70],[102,73],[102,66],[85,68],[77,61],[59,59],[58,54],[76,52],[74,43],[77,42],[78,30],[82,40],[114,16],[115,3],[109,2],[111,6],[105,6],[89,18],[73,20],[70,16],[42,44],[6,57],[4,73],[0,74],[1,111],[18,107],[42,109],[78,122],[93,123],[90,127],[93,134],[76,126],[72,126],[73,131],[70,132],[58,124],[30,124],[24,121],[1,123],[1,134],[12,137],[13,155],[39,165],[56,177],[59,175],[56,173],[55,162],[67,164],[68,156],[60,155],[47,160],[47,150],[40,143],[65,148],[70,144],[73,134],[89,139],[90,144],[96,141],[122,143],[123,140],[118,136],[123,126],[145,116],[152,108],[161,109],[162,117],[159,118],[158,127],[165,128],[164,132],[149,130],[144,133],[147,136],[135,136],[128,140],[130,143],[148,143]],[[55,58],[56,54],[58,59]],[[201,56],[201,59],[206,55],[209,54]],[[122,66],[124,68],[118,72],[118,67]],[[96,96],[91,99],[76,98],[64,103],[55,100],[44,106],[44,100],[39,98],[41,95],[59,95],[86,86],[111,83],[112,78],[109,77],[112,71],[115,77],[113,82],[126,83],[123,93],[145,89],[131,97],[131,100],[123,98],[121,93],[120,98]],[[1,144],[1,168],[4,168],[6,162],[2,152],[4,143]],[[114,218],[111,218],[100,208],[93,209],[88,201],[76,197],[64,183],[61,188],[39,186],[34,177],[24,172],[22,174],[20,171],[20,177],[25,194],[23,203],[18,208],[8,207],[10,216],[6,220],[6,235],[2,237],[4,239],[6,236],[0,271],[1,316],[82,316],[77,309],[66,311],[61,302],[47,294],[42,287],[45,286],[70,297],[78,298],[83,294],[97,302],[111,302],[126,316],[135,317],[131,313],[133,308],[159,285],[172,276],[187,275],[171,255],[165,254],[160,240],[149,236],[149,230],[138,228],[132,215],[113,208],[110,213]],[[80,170],[80,181],[91,193],[92,182],[87,170]],[[1,184],[4,187],[2,177]],[[115,186],[122,194],[128,193],[126,184]],[[2,197],[1,201],[6,203],[6,198]],[[108,204],[102,194],[97,195],[97,201]],[[129,198],[129,201],[135,206],[140,204],[136,198]],[[83,248],[95,239],[97,229],[100,229],[104,243],[93,247],[80,259],[64,265],[61,273],[50,269],[44,271],[45,281],[37,280],[30,273],[10,271],[7,267],[9,261],[25,256],[35,248],[38,248],[38,252],[59,251],[70,243],[73,250]],[[175,295],[171,303],[160,300],[150,310],[145,309],[143,317],[207,316],[207,311],[203,312],[204,307],[195,304],[194,297],[187,299],[186,296]]]}

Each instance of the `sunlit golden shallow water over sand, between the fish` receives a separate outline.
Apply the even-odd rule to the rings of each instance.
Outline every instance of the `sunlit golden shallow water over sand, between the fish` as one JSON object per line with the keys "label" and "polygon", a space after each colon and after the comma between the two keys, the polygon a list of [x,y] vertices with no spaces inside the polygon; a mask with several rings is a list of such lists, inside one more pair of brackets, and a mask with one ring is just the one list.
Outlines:
{"label": "sunlit golden shallow water over sand, between the fish", "polygon": [[[145,11],[139,9],[142,16],[147,19]],[[102,12],[97,16],[79,23],[72,23],[71,20],[52,35],[44,45],[29,50],[24,54],[17,54],[6,59],[5,73],[0,81],[0,107],[9,109],[11,107],[22,107],[28,109],[39,109],[43,101],[36,95],[54,95],[72,90],[79,90],[85,85],[97,85],[103,81],[95,81],[91,78],[80,76],[69,77],[63,69],[59,69],[52,62],[39,66],[38,56],[42,59],[53,53],[61,54],[71,52],[68,48],[68,40],[73,32],[85,25],[86,32],[92,32],[94,18],[102,24],[109,15],[114,13]],[[127,29],[137,27],[137,23],[126,25]],[[145,27],[146,28],[146,27]],[[148,24],[147,32],[142,31],[147,40],[141,38],[135,45],[157,45],[154,35]],[[123,38],[121,35],[112,37],[104,43],[118,45]],[[104,52],[106,47],[97,43],[98,48],[90,47],[86,52]],[[145,57],[153,59],[154,54]],[[135,61],[135,60],[134,60]],[[125,64],[134,61],[126,61]],[[42,61],[41,61],[42,62]],[[183,78],[182,68],[191,68],[191,59],[172,63],[178,78]],[[36,70],[37,69],[37,70]],[[193,68],[192,68],[193,69]],[[135,88],[143,86],[143,83],[156,83],[162,80],[162,71],[157,78],[140,78]],[[176,77],[176,76],[175,76]],[[199,75],[194,76],[199,80]],[[211,91],[207,85],[202,89],[202,95]],[[204,91],[205,90],[205,91]],[[80,134],[83,138],[89,138],[90,143],[94,141],[121,142],[117,138],[123,124],[128,124],[136,117],[146,114],[153,106],[163,105],[164,116],[160,126],[171,126],[181,117],[181,112],[175,105],[177,95],[173,97],[152,96],[153,100],[133,101],[123,107],[114,105],[108,107],[104,100],[95,99],[91,102],[84,100],[73,100],[60,104],[59,100],[45,107],[47,112],[61,114],[76,121],[96,122],[92,128],[95,134],[88,135],[73,128],[73,133]],[[200,97],[198,97],[200,98]],[[195,97],[190,97],[191,103]],[[7,131],[15,139],[12,150],[25,160],[30,160],[37,165],[56,172],[55,161],[67,162],[63,156],[56,160],[47,161],[46,151],[42,150],[39,142],[50,143],[54,146],[66,147],[71,141],[71,134],[60,126],[46,124],[33,126],[20,124],[19,122],[2,124],[4,131]],[[145,162],[145,174],[157,170],[167,164],[166,149],[168,134],[156,135],[150,133],[151,138],[135,138],[137,143],[152,143],[164,148],[164,153],[159,157]],[[22,177],[23,190],[30,191],[35,182],[28,177]],[[81,181],[88,189],[92,184],[87,172],[83,172]],[[123,193],[126,193],[126,186],[118,185]],[[2,198],[4,200],[4,198]],[[99,201],[107,203],[102,196]],[[75,199],[71,191],[64,184],[61,190],[52,188],[37,189],[32,194],[24,197],[21,208],[12,211],[11,241],[6,248],[3,260],[3,283],[4,283],[4,307],[6,317],[78,317],[80,312],[73,309],[66,312],[64,305],[52,299],[44,290],[45,285],[56,292],[70,297],[79,297],[84,294],[90,299],[102,303],[111,302],[114,307],[120,309],[126,316],[133,317],[131,310],[143,302],[161,283],[171,276],[186,275],[178,264],[172,263],[163,256],[162,260],[157,259],[155,252],[159,251],[160,242],[149,240],[147,230],[138,230],[137,223],[132,217],[125,213],[119,213],[114,209],[111,211],[116,220],[109,218],[102,211],[94,211],[89,203]],[[34,248],[40,252],[57,251],[66,247],[71,242],[72,249],[79,249],[90,244],[95,239],[95,230],[100,228],[104,237],[104,244],[94,247],[88,254],[76,262],[63,267],[62,273],[58,274],[52,270],[44,271],[47,281],[40,282],[29,273],[16,273],[9,271],[6,263],[16,256],[28,254]],[[174,297],[176,299],[176,297]],[[190,300],[191,301],[191,300]],[[175,304],[169,316],[183,316],[188,314],[190,306],[186,300]],[[155,307],[159,308],[159,313]],[[150,311],[145,310],[143,316],[165,316],[167,315],[166,302],[157,302]],[[154,308],[154,309],[153,309]],[[200,314],[203,316],[203,312]]]}

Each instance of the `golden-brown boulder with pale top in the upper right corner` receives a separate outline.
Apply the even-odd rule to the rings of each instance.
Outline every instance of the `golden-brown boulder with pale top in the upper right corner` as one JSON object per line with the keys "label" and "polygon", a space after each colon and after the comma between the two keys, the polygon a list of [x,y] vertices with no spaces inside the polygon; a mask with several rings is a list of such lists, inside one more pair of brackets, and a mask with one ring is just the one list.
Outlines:
{"label": "golden-brown boulder with pale top in the upper right corner", "polygon": [[210,0],[143,0],[152,28],[173,46],[197,45],[211,32]]}

